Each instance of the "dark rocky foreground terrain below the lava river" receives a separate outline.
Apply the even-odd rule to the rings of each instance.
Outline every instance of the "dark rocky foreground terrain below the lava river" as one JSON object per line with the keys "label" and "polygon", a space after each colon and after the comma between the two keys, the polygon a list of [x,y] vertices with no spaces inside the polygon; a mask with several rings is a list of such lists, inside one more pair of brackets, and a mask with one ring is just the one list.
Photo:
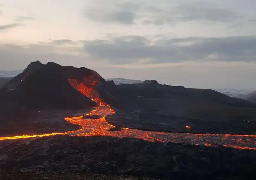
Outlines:
{"label": "dark rocky foreground terrain below the lava river", "polygon": [[96,173],[161,179],[253,179],[256,151],[131,138],[55,136],[1,141],[0,168],[6,177],[2,172],[37,173],[36,177],[43,174],[48,178],[52,174],[83,177]]}

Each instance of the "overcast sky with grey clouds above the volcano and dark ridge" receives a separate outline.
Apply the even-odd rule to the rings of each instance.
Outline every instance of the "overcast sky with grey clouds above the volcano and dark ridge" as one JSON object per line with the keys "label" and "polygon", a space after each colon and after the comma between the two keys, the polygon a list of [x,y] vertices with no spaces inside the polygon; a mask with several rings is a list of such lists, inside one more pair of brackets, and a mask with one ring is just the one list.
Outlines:
{"label": "overcast sky with grey clouds above the volcano and dark ridge", "polygon": [[0,69],[256,90],[255,0],[0,0]]}

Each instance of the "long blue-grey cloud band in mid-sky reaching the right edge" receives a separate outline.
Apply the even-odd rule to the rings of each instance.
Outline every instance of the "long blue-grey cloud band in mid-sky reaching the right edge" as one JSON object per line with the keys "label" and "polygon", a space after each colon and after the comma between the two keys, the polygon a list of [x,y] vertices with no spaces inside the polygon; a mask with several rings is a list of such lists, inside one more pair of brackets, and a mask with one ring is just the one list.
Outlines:
{"label": "long blue-grey cloud band in mid-sky reaching the right edge", "polygon": [[124,36],[109,41],[85,41],[84,51],[92,59],[107,59],[112,64],[172,63],[189,60],[243,61],[256,60],[256,36],[221,38],[161,39],[152,43],[141,36]]}

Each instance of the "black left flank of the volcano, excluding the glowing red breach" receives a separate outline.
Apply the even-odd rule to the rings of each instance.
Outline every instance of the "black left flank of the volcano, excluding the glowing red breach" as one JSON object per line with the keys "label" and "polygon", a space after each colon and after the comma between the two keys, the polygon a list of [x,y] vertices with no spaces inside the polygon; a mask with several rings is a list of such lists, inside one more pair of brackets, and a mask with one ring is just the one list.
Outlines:
{"label": "black left flank of the volcano, excluding the glowing red breach", "polygon": [[[1,100],[33,109],[82,109],[96,106],[90,98],[70,86],[55,63],[28,65],[1,90]],[[3,103],[1,103],[3,105]]]}

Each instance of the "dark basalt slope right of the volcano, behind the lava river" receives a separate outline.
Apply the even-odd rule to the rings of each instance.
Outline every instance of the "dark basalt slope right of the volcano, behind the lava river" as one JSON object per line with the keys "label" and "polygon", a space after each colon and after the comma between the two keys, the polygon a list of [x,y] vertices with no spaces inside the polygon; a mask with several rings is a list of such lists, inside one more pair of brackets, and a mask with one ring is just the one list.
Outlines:
{"label": "dark basalt slope right of the volcano, behind the lava river", "polygon": [[[167,86],[155,80],[113,86],[115,115],[109,124],[142,130],[256,133],[256,105],[211,89]],[[190,128],[185,128],[190,126]]]}

